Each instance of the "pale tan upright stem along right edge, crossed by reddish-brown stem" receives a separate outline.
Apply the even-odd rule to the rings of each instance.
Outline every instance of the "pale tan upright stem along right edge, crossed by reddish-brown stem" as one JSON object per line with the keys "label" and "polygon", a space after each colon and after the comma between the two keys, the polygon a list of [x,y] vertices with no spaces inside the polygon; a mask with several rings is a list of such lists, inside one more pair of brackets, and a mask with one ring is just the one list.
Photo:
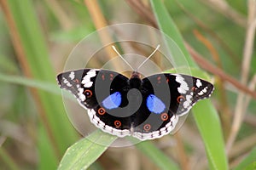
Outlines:
{"label": "pale tan upright stem along right edge, crossed by reddish-brown stem", "polygon": [[[241,65],[241,83],[244,85],[247,84],[250,63],[251,63],[252,54],[253,54],[253,42],[254,42],[255,29],[256,29],[255,11],[256,11],[256,1],[249,0],[248,1],[247,35],[246,35],[246,41],[245,41],[244,52],[243,52],[243,60]],[[244,107],[244,99],[245,99],[245,94],[240,92],[236,100],[235,115],[234,115],[234,120],[231,127],[230,137],[226,144],[227,153],[229,153],[232,145],[236,140],[236,135],[241,127],[241,122],[247,110],[247,108]]]}

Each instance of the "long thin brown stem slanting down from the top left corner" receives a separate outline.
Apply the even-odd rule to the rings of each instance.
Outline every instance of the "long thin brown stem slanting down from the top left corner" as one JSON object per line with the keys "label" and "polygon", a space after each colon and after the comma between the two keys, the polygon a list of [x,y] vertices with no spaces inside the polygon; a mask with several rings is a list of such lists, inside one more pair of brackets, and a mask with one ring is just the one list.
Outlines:
{"label": "long thin brown stem slanting down from the top left corner", "polygon": [[[9,9],[9,5],[7,2],[8,1],[6,1],[6,0],[0,0],[0,5],[3,8],[3,13],[5,14],[5,19],[9,26],[9,33],[10,33],[10,36],[11,36],[11,39],[12,39],[12,42],[13,42],[13,45],[15,48],[15,53],[16,53],[17,59],[19,60],[21,69],[22,69],[23,73],[25,74],[25,76],[32,77],[30,66],[27,65],[26,54],[22,47],[19,31],[17,30],[17,27],[15,25],[15,20],[11,14],[11,11]],[[40,101],[38,91],[36,88],[29,88],[29,90],[31,91],[32,97],[35,100],[35,103],[38,107],[39,116],[41,117],[41,120],[44,123],[44,127],[46,128],[46,132],[49,136],[49,140],[50,140],[51,144],[53,144],[53,146],[54,146],[53,148],[55,151],[55,155],[60,157],[60,150],[58,150],[58,147],[57,147],[57,144],[55,141],[55,137],[50,129],[49,122],[45,116],[44,107],[43,107],[43,105],[41,105],[42,102]]]}

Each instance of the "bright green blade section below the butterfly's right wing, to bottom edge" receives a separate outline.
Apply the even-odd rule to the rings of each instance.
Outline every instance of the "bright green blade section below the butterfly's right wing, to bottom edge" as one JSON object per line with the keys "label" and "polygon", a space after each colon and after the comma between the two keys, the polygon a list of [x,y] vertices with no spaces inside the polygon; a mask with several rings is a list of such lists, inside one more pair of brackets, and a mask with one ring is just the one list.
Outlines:
{"label": "bright green blade section below the butterfly's right wing, to bottom edge", "polygon": [[207,150],[210,167],[228,169],[219,117],[212,103],[209,99],[201,100],[192,111]]}

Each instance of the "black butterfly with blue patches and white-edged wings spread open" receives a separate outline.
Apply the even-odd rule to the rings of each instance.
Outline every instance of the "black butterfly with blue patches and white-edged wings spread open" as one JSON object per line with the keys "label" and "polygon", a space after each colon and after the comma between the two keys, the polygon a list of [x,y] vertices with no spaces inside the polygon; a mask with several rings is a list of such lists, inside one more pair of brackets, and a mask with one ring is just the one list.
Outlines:
{"label": "black butterfly with blue patches and white-edged wings spread open", "polygon": [[213,85],[197,77],[160,73],[131,78],[115,71],[81,69],[57,76],[88,111],[90,122],[106,133],[140,140],[171,133],[178,118],[200,99],[209,98]]}

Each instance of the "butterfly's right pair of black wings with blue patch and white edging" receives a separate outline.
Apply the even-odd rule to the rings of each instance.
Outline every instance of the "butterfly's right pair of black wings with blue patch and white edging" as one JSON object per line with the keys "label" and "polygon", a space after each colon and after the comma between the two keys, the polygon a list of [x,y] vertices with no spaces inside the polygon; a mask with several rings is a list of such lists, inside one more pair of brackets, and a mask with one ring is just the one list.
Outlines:
{"label": "butterfly's right pair of black wings with blue patch and white edging", "polygon": [[143,105],[137,113],[134,136],[155,139],[172,132],[178,117],[189,112],[199,99],[212,94],[213,85],[200,78],[157,74],[143,79]]}

